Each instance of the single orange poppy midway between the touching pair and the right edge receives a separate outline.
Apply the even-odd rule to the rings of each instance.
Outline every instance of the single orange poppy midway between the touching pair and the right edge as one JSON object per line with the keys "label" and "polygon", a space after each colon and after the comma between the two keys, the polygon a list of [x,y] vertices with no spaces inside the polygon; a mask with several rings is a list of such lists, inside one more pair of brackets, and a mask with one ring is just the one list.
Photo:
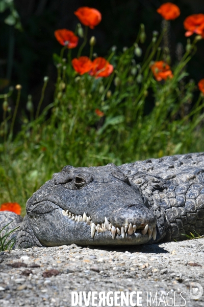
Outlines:
{"label": "single orange poppy midway between the touching pair and the right edge", "polygon": [[151,71],[157,81],[166,80],[167,78],[173,78],[173,74],[170,70],[169,65],[164,61],[158,61],[151,65]]}

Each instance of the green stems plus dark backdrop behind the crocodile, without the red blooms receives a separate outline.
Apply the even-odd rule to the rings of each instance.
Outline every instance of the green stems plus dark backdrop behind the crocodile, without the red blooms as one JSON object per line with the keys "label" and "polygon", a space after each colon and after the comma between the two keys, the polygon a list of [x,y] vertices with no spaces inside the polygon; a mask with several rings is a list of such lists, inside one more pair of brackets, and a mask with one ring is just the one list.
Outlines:
{"label": "green stems plus dark backdrop behind the crocodile, without the red blooms", "polygon": [[[2,203],[17,202],[24,214],[33,192],[67,164],[119,165],[204,150],[204,95],[197,89],[204,78],[204,40],[195,41],[193,35],[187,43],[183,27],[187,16],[204,13],[204,2],[173,1],[181,9],[167,32],[174,77],[158,82],[150,67],[152,60],[164,59],[159,47],[164,23],[157,13],[162,3],[0,0]],[[88,37],[96,37],[94,52],[114,65],[108,78],[80,77],[59,56],[62,46],[54,31],[74,31],[79,20],[73,12],[81,6],[102,14]],[[145,26],[145,41],[138,35],[140,24]],[[152,34],[153,30],[159,33]],[[79,46],[72,50],[72,58]],[[89,52],[87,43],[83,55]],[[22,90],[17,86],[5,96],[16,84]],[[104,115],[98,116],[97,108]]]}

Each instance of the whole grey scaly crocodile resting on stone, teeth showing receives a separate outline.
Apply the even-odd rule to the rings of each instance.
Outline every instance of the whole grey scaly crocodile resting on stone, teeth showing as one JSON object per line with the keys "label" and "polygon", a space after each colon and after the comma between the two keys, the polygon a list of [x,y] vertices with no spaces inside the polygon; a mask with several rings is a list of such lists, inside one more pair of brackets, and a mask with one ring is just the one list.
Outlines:
{"label": "whole grey scaly crocodile resting on stone, teeth showing", "polygon": [[[27,201],[16,247],[141,245],[204,234],[204,152],[65,166]],[[6,212],[0,212],[0,221]],[[11,225],[11,224],[10,224]]]}

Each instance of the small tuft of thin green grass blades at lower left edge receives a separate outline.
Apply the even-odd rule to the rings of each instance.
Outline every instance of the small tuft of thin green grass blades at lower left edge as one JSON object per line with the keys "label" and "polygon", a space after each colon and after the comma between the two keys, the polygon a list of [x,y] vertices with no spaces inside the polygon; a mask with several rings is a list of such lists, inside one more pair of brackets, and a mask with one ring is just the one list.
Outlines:
{"label": "small tuft of thin green grass blades at lower left edge", "polygon": [[9,231],[8,226],[11,223],[12,222],[8,223],[6,226],[0,229],[0,252],[11,250],[16,242],[16,236],[12,238],[9,238],[9,236],[12,235],[12,233],[16,231],[20,226]]}

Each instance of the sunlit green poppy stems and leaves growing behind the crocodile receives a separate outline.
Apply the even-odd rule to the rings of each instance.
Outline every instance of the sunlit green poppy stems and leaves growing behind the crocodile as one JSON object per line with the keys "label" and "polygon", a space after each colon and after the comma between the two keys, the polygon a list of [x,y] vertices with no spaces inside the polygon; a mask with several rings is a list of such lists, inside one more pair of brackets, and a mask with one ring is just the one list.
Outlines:
{"label": "sunlit green poppy stems and leaves growing behind the crocodile", "polygon": [[[203,96],[200,94],[192,105],[195,84],[186,78],[186,65],[196,51],[196,41],[172,67],[173,78],[158,82],[150,67],[153,60],[163,59],[159,47],[162,35],[154,34],[146,53],[139,57],[143,31],[141,27],[131,48],[119,54],[115,48],[110,50],[107,59],[114,72],[107,78],[77,75],[71,65],[71,50],[67,58],[65,48],[60,56],[54,54],[58,77],[53,103],[41,110],[48,82],[45,77],[37,112],[34,116],[29,96],[29,116],[22,113],[21,130],[15,138],[16,108],[10,120],[11,112],[4,104],[0,128],[2,202],[17,202],[25,208],[33,192],[68,164],[120,165],[204,150]],[[147,99],[148,95],[152,99]],[[19,97],[20,89],[17,106]],[[97,116],[96,109],[104,116]]]}

